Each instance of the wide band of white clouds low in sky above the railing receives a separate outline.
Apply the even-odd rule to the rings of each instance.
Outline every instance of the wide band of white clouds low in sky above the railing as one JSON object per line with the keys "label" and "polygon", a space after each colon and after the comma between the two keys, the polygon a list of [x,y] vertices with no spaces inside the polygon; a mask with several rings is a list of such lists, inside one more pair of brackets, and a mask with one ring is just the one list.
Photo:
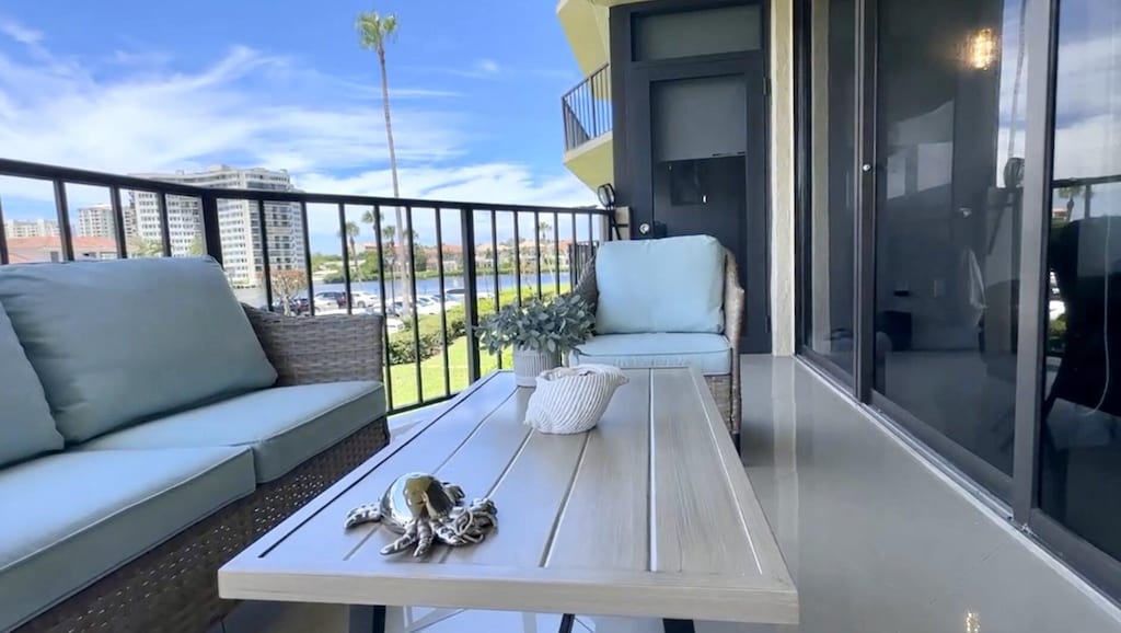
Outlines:
{"label": "wide band of white clouds low in sky above the railing", "polygon": [[[0,24],[9,37],[19,33],[21,42],[40,46],[41,34]],[[154,51],[111,52],[96,61],[101,66],[40,52],[24,59],[0,48],[3,157],[111,173],[265,166],[288,169],[307,191],[391,194],[381,94],[372,79],[332,76],[247,47],[189,71],[170,67],[173,58]],[[102,72],[106,65],[113,73]],[[476,71],[501,68],[484,59]],[[594,201],[559,160],[541,175],[471,155],[476,126],[456,94],[400,86],[390,97],[402,195],[550,205]],[[2,178],[0,187],[6,200],[50,196],[48,186],[29,181]],[[337,230],[334,222],[313,224],[319,235]]]}

